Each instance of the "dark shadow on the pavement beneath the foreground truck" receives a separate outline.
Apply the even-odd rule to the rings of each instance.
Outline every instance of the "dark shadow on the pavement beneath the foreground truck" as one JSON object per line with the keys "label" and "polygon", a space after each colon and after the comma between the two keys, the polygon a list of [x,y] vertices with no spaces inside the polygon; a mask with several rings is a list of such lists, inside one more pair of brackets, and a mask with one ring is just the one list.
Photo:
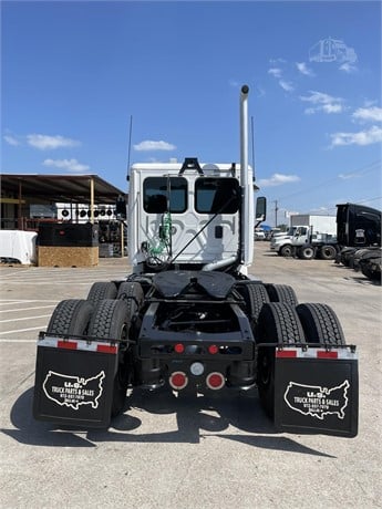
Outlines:
{"label": "dark shadow on the pavement beneath the foreground truck", "polygon": [[[235,440],[252,447],[285,450],[297,454],[333,457],[306,447],[292,438],[277,434],[265,416],[255,389],[217,394],[175,396],[168,389],[144,392],[134,389],[126,398],[124,414],[114,418],[109,429],[85,430],[58,428],[51,423],[34,420],[32,416],[33,388],[25,391],[11,408],[10,419],[16,429],[1,432],[20,444],[51,447],[96,447],[99,443],[184,443],[199,444],[210,436]],[[141,418],[128,415],[128,409],[145,414],[175,414],[177,429],[140,434]],[[214,415],[211,415],[214,414]],[[228,428],[237,433],[224,433]],[[134,432],[134,433],[133,433]]]}

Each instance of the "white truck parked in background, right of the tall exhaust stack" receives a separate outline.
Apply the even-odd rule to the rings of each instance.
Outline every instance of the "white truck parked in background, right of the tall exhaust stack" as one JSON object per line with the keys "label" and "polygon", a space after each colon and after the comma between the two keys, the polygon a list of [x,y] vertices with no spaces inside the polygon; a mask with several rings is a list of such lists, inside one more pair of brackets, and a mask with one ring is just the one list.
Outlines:
{"label": "white truck parked in background, right of the tall exhaust stack", "polygon": [[335,216],[291,216],[288,235],[272,239],[270,249],[283,257],[333,260],[338,252]]}

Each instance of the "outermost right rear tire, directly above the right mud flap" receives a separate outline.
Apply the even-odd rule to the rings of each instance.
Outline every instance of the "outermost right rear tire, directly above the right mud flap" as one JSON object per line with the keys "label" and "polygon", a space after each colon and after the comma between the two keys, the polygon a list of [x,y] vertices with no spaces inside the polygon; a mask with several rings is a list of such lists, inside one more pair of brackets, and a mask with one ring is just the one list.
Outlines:
{"label": "outermost right rear tire, directly above the right mud flap", "polygon": [[341,324],[334,311],[327,304],[299,304],[296,308],[307,343],[324,345],[345,344]]}

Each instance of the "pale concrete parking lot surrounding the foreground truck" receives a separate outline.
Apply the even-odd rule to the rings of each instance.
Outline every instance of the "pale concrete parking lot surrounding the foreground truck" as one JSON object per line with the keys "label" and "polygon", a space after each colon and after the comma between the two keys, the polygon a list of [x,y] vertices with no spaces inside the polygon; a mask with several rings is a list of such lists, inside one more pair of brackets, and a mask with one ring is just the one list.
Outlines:
{"label": "pale concrete parking lot surrounding the foreground truck", "polygon": [[32,418],[35,343],[63,299],[123,278],[96,268],[0,268],[3,508],[381,507],[381,287],[331,261],[278,257],[256,242],[250,272],[291,284],[300,302],[337,312],[358,345],[360,426],[353,439],[275,432],[255,389],[193,399],[134,391],[109,430]]}

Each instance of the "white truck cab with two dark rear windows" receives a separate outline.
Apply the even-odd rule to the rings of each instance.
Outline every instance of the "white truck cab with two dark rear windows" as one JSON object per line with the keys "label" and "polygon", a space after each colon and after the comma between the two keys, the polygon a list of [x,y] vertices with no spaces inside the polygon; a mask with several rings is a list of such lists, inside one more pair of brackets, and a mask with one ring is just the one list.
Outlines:
{"label": "white truck cab with two dark rear windows", "polygon": [[[252,170],[248,168],[248,178]],[[252,204],[252,199],[250,200]],[[134,272],[245,271],[254,253],[254,211],[240,225],[240,166],[135,164],[130,174],[128,250]],[[246,236],[245,252],[240,251]]]}

